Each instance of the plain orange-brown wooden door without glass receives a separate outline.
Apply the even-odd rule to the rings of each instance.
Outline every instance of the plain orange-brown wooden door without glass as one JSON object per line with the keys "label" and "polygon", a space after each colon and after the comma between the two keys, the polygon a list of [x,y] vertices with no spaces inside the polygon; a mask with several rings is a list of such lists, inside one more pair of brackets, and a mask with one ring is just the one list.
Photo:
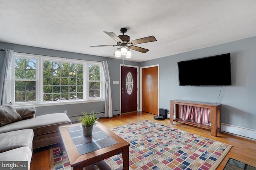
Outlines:
{"label": "plain orange-brown wooden door without glass", "polygon": [[142,69],[142,111],[158,115],[158,66]]}

